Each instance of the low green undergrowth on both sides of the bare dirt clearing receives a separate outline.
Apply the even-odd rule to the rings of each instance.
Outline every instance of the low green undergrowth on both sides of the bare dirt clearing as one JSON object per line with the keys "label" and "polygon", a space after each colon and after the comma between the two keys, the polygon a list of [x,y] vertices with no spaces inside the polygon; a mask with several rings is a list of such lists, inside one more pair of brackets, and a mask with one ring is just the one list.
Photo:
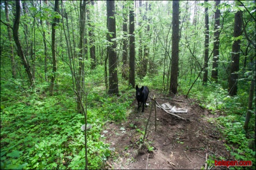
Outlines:
{"label": "low green undergrowth on both sides of the bare dirt clearing", "polygon": [[[120,96],[109,96],[102,79],[103,67],[86,72],[89,169],[102,169],[112,152],[104,142],[104,124],[107,121],[126,120],[127,110],[135,100],[135,90],[127,87],[127,80],[118,77]],[[77,114],[71,74],[59,74],[62,81],[54,96],[48,94],[47,82],[36,82],[33,91],[22,89],[24,80],[1,80],[1,169],[84,169],[83,115]],[[136,84],[147,85],[150,90],[163,91],[162,76],[136,78]],[[179,94],[187,94],[191,85],[179,82]],[[246,86],[247,87],[247,86]],[[202,85],[197,82],[188,97],[197,99],[202,108],[219,115],[209,121],[216,122],[226,150],[236,160],[252,160],[255,168],[255,112],[248,133],[243,130],[248,105],[248,89],[238,88],[238,96],[216,83]],[[164,92],[165,93],[165,92]],[[255,102],[255,100],[254,100]],[[86,103],[85,103],[86,105]],[[255,109],[255,103],[253,105]],[[228,159],[212,156],[214,159]],[[230,159],[231,157],[229,157]],[[213,160],[208,159],[211,163]],[[212,162],[213,163],[213,162]],[[232,167],[231,167],[232,168]],[[236,167],[237,168],[237,167]]]}

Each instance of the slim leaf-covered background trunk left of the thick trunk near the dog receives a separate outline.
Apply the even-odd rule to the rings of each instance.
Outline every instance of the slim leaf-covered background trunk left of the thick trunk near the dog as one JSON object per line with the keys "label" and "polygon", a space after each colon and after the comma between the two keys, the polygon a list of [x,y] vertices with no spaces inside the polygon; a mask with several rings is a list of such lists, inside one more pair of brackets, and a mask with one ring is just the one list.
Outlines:
{"label": "slim leaf-covered background trunk left of the thick trunk near the dog", "polygon": [[[94,1],[91,1],[92,6],[94,6]],[[91,17],[94,13],[91,13]],[[88,9],[88,25],[89,25],[89,43],[90,43],[90,56],[91,56],[91,69],[94,69],[96,67],[96,56],[95,56],[95,45],[94,45],[94,25],[91,23],[94,21],[94,19],[90,19],[89,15],[89,9]]]}

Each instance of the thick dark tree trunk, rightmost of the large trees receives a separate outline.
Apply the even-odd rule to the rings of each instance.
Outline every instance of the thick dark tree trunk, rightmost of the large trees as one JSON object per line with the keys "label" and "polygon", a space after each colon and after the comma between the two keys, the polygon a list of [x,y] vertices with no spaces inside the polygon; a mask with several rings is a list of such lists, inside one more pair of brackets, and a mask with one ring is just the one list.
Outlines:
{"label": "thick dark tree trunk, rightmost of the large trees", "polygon": [[[235,22],[234,22],[234,38],[242,35],[242,11],[237,11],[235,13]],[[229,77],[229,95],[237,95],[237,82],[238,82],[238,71],[239,71],[239,53],[240,53],[240,38],[234,40],[232,45],[232,55],[231,55],[231,74]]]}

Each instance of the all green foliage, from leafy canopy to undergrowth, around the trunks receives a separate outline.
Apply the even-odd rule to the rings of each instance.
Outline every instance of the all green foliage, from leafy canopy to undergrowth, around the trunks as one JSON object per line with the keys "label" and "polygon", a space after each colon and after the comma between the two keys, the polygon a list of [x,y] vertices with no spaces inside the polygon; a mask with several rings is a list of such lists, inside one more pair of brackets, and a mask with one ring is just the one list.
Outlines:
{"label": "all green foliage, from leafy canopy to undergrowth, around the trunks", "polygon": [[[26,2],[26,1],[24,1]],[[14,1],[9,3],[10,25],[14,19]],[[203,40],[204,10],[208,7],[209,16],[214,16],[214,1],[200,3],[193,1],[180,1],[181,39],[179,40],[179,86],[180,94],[187,94],[194,79],[196,79],[200,68],[203,65]],[[3,4],[3,3],[2,3]],[[1,4],[1,5],[2,5]],[[83,169],[85,167],[84,134],[80,130],[85,124],[83,115],[75,114],[76,103],[74,91],[72,90],[72,74],[69,68],[67,53],[72,53],[72,59],[77,64],[76,57],[80,52],[78,49],[79,37],[79,1],[63,1],[60,5],[60,13],[53,11],[53,2],[39,4],[38,1],[27,1],[27,13],[21,16],[19,27],[19,38],[25,56],[30,62],[31,68],[35,68],[36,88],[28,87],[24,67],[14,50],[14,60],[18,78],[11,78],[10,46],[14,44],[9,41],[7,26],[1,24],[1,169]],[[88,16],[91,26],[86,25],[86,30],[96,30],[92,37],[89,37],[88,45],[96,47],[97,67],[90,70],[89,52],[85,54],[85,90],[88,93],[88,123],[92,129],[88,132],[88,162],[90,169],[104,168],[104,160],[110,156],[109,145],[104,143],[104,137],[100,135],[104,123],[108,120],[123,121],[126,119],[130,103],[135,100],[135,91],[127,81],[118,74],[120,82],[120,96],[112,97],[106,94],[104,87],[104,58],[106,58],[106,2],[96,1],[96,5],[86,4],[90,11]],[[122,6],[129,7],[133,1],[116,2],[116,28],[117,28],[117,53],[118,71],[121,72],[121,45],[123,38],[123,15],[129,16],[129,8],[122,9]],[[149,1],[151,10],[146,11],[146,5],[142,5],[136,13],[141,26],[135,28],[136,47],[136,73],[139,70],[142,56],[138,56],[138,44],[142,49],[149,47],[148,70],[145,77],[136,77],[136,84],[147,85],[149,90],[159,90],[163,94],[168,93],[170,84],[170,63],[171,63],[171,1]],[[251,119],[249,132],[243,132],[248,106],[249,82],[255,75],[255,50],[252,44],[248,43],[247,37],[243,34],[234,38],[234,13],[243,11],[248,37],[255,40],[255,3],[254,1],[243,1],[247,8],[240,6],[238,1],[223,1],[219,5],[220,18],[220,55],[219,55],[219,84],[209,83],[203,86],[199,79],[191,89],[189,97],[196,98],[202,108],[209,109],[212,114],[219,114],[214,121],[220,124],[225,130],[225,140],[228,142],[226,148],[231,151],[235,159],[252,159],[255,151],[248,148],[248,143],[255,138],[255,119]],[[42,5],[42,7],[40,7]],[[196,6],[197,5],[197,6]],[[1,6],[1,21],[5,22],[4,7]],[[148,6],[149,7],[149,6]],[[192,9],[192,8],[193,9]],[[130,7],[131,8],[131,7]],[[24,8],[25,9],[25,8]],[[62,16],[63,13],[66,16]],[[135,12],[138,10],[135,10]],[[53,75],[51,68],[51,24],[56,17],[60,21],[64,19],[64,27],[69,42],[65,42],[64,28],[62,22],[56,25],[56,53],[57,53],[57,82],[56,96],[48,96],[49,78]],[[147,18],[145,20],[144,18]],[[213,50],[214,17],[210,17],[210,51]],[[42,23],[39,23],[42,20]],[[94,28],[92,28],[94,26]],[[147,26],[150,31],[147,32]],[[69,32],[67,28],[69,27]],[[43,45],[43,32],[45,32],[46,48],[45,54]],[[175,32],[174,34],[178,34]],[[140,41],[140,38],[141,40]],[[85,38],[88,38],[86,33]],[[94,43],[89,40],[94,39]],[[241,40],[240,65],[243,68],[238,71],[238,95],[228,96],[229,66],[231,64],[232,42]],[[71,47],[68,49],[67,44]],[[120,48],[120,49],[119,49]],[[15,47],[14,47],[15,49]],[[144,54],[144,50],[142,50]],[[46,56],[45,56],[46,55]],[[211,56],[212,58],[213,56]],[[44,59],[48,59],[46,65]],[[209,77],[211,72],[212,59],[209,60]],[[34,60],[35,59],[35,60]],[[100,65],[101,64],[101,65]],[[48,69],[44,73],[44,67]],[[31,69],[33,71],[33,69]],[[45,80],[44,77],[48,77]],[[255,100],[253,103],[255,110]],[[252,112],[255,117],[255,112]],[[130,127],[136,128],[138,133],[144,134],[133,124]],[[121,129],[125,132],[125,129]],[[140,140],[142,141],[142,135]],[[178,141],[180,144],[182,142]],[[232,146],[232,147],[230,147]],[[148,147],[152,150],[152,147]],[[209,157],[208,165],[215,157]],[[255,165],[255,162],[254,162]],[[254,168],[254,167],[253,167]]]}

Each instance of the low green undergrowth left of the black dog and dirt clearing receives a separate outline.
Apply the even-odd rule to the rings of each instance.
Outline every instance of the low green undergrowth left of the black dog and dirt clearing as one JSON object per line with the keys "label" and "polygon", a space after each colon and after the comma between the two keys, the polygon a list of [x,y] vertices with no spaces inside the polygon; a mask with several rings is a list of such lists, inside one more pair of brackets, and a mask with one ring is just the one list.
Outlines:
{"label": "low green undergrowth left of the black dog and dirt clearing", "polygon": [[[59,85],[59,91],[62,88]],[[85,169],[80,129],[85,120],[75,111],[74,94],[66,90],[51,97],[45,89],[45,83],[37,85],[34,93],[27,91],[27,97],[15,83],[1,80],[1,169]],[[121,85],[118,97],[102,89],[104,85],[98,85],[88,91],[89,169],[104,168],[111,154],[101,136],[104,123],[125,120],[134,100],[131,88]]]}

